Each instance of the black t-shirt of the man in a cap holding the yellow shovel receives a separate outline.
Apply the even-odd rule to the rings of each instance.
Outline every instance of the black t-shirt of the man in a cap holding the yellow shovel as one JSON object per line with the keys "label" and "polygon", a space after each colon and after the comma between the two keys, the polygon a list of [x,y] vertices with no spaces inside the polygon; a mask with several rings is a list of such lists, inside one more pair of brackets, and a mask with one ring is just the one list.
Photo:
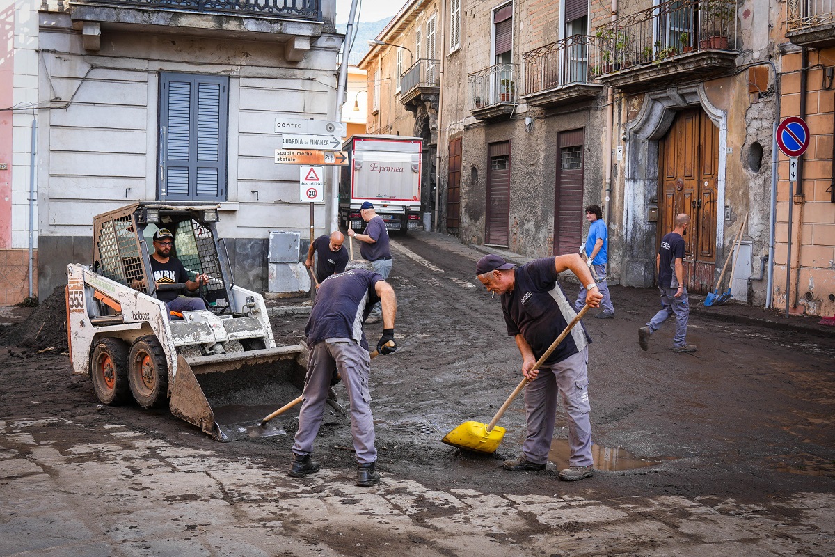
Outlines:
{"label": "black t-shirt of the man in a cap holding the yellow shovel", "polygon": [[[559,337],[577,312],[557,283],[554,257],[543,257],[514,270],[514,290],[502,295],[508,334],[522,334],[537,360]],[[562,362],[591,343],[583,323],[578,323],[551,352],[544,365]]]}

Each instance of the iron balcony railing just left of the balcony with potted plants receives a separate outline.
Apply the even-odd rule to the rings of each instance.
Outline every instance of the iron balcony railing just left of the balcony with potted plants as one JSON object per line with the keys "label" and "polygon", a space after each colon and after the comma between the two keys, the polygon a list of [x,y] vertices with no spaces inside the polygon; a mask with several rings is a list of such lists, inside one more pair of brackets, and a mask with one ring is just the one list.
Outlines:
{"label": "iron balcony railing just left of the balcony with potted plants", "polygon": [[589,83],[589,56],[594,46],[594,37],[572,35],[524,53],[525,94]]}

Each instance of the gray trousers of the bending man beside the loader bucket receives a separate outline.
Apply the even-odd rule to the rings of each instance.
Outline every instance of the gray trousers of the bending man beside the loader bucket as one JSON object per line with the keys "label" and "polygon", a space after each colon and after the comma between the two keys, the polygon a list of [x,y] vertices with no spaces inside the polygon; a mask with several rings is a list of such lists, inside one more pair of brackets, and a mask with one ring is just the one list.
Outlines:
{"label": "gray trousers of the bending man beside the loader bucket", "polygon": [[342,376],[342,384],[351,403],[351,435],[357,462],[372,463],[377,460],[377,448],[374,448],[374,418],[368,390],[371,357],[365,348],[347,339],[328,339],[310,347],[293,453],[303,457],[313,452],[313,440],[319,433],[325,413],[327,389],[331,386],[334,367]]}

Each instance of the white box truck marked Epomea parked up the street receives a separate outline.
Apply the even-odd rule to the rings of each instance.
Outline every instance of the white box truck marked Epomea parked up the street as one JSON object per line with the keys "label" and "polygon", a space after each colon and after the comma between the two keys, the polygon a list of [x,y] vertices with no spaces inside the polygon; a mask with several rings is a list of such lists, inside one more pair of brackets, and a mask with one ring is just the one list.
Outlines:
{"label": "white box truck marked Epomea parked up the street", "polygon": [[420,213],[423,142],[401,135],[353,135],[342,149],[348,165],[342,167],[339,220],[363,230],[360,206],[371,201],[386,228],[405,234],[422,228]]}

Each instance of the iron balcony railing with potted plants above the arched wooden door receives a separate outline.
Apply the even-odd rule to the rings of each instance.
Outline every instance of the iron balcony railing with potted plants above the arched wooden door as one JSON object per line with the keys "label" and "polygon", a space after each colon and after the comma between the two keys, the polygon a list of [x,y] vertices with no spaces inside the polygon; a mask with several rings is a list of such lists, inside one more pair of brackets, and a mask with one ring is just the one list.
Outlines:
{"label": "iron balcony railing with potted plants above the arched wooden door", "polygon": [[595,32],[594,75],[702,50],[738,51],[736,0],[674,0]]}

